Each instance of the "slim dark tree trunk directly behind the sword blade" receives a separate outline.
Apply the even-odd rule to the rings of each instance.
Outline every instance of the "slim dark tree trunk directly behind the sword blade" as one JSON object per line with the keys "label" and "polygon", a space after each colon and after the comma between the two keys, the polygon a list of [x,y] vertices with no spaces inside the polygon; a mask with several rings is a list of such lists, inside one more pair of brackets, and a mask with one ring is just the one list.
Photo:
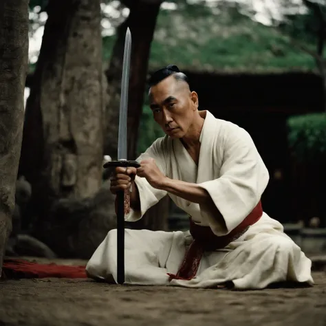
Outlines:
{"label": "slim dark tree trunk directly behind the sword blade", "polygon": [[107,128],[105,133],[105,153],[111,155],[113,158],[116,158],[118,144],[117,135],[124,36],[127,27],[129,27],[131,30],[132,45],[128,107],[128,158],[132,160],[136,155],[138,127],[144,102],[149,53],[159,11],[160,1],[155,1],[155,3],[133,1],[129,17],[117,30],[117,40],[113,47],[109,69],[107,70],[109,101],[107,102],[106,109]]}

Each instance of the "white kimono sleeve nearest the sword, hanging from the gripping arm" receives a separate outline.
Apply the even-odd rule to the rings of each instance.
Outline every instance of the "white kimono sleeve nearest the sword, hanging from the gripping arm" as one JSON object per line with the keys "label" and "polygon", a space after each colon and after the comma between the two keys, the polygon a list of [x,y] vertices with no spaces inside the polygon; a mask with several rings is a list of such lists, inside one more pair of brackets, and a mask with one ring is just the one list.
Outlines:
{"label": "white kimono sleeve nearest the sword, hanging from the gripping arm", "polygon": [[[137,162],[141,162],[142,160],[146,160],[151,157],[155,160],[155,164],[160,171],[166,175],[165,157],[167,157],[168,153],[166,153],[164,139],[165,138],[158,138],[155,140],[155,142],[153,142],[153,144],[137,158]],[[157,202],[159,202],[160,199],[167,194],[166,191],[153,188],[144,177],[138,177],[136,175],[135,184],[138,188],[138,193],[140,196],[140,210],[133,210],[131,208],[129,214],[124,217],[125,221],[138,221],[143,217],[149,208],[157,204]]]}

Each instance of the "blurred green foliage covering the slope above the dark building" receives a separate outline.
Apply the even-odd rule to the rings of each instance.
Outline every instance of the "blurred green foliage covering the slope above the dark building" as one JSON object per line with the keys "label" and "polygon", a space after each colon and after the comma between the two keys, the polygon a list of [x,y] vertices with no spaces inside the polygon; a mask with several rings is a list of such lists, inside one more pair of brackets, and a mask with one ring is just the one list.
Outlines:
{"label": "blurred green foliage covering the slope above the dark building", "polygon": [[[103,39],[103,56],[110,58],[114,36]],[[305,43],[315,50],[315,43]],[[268,72],[312,70],[314,58],[290,45],[277,28],[252,21],[228,8],[219,13],[196,5],[160,10],[149,69],[175,63],[180,69]]]}

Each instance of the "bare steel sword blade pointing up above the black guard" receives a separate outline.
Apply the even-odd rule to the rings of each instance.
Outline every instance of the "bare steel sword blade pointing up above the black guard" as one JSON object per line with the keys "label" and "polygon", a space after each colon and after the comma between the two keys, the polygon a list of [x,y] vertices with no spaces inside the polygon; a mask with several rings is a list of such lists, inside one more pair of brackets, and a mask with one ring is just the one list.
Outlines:
{"label": "bare steel sword blade pointing up above the black guard", "polygon": [[118,131],[118,160],[127,160],[127,111],[129,91],[129,68],[131,57],[131,32],[127,28],[124,39],[124,54],[122,64],[120,116]]}

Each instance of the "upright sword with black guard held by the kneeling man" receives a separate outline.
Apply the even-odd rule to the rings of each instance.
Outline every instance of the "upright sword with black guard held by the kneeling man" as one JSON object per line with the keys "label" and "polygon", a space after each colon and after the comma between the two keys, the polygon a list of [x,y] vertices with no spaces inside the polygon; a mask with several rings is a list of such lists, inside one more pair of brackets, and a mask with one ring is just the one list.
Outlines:
{"label": "upright sword with black guard held by the kneeling man", "polygon": [[[127,111],[128,111],[128,91],[129,91],[129,70],[131,56],[131,32],[127,28],[124,40],[124,54],[122,64],[120,115],[118,131],[118,161],[107,162],[103,165],[105,169],[123,166],[134,166],[138,168],[140,164],[136,161],[127,160]],[[124,214],[130,210],[129,191],[119,191],[116,195],[116,215],[117,215],[117,283],[124,283]]]}

